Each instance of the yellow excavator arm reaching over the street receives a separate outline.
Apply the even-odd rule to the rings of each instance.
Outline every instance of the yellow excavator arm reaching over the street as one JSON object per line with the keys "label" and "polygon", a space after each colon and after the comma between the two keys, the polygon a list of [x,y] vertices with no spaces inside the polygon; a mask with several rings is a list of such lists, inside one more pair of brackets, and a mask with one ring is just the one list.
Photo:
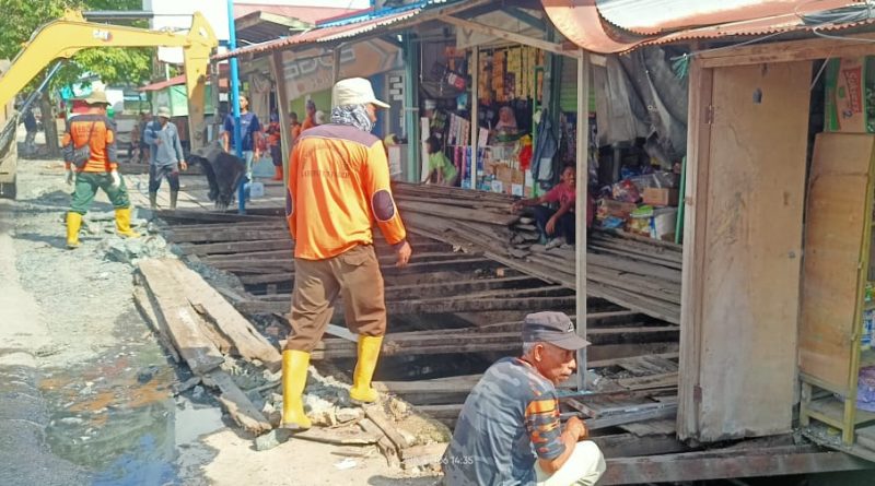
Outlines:
{"label": "yellow excavator arm reaching over the street", "polygon": [[46,66],[92,47],[182,47],[188,94],[191,147],[203,144],[203,106],[210,54],[219,45],[210,24],[195,12],[188,34],[149,31],[86,22],[82,13],[68,11],[61,19],[34,32],[31,40],[0,76],[0,106],[23,90]]}

